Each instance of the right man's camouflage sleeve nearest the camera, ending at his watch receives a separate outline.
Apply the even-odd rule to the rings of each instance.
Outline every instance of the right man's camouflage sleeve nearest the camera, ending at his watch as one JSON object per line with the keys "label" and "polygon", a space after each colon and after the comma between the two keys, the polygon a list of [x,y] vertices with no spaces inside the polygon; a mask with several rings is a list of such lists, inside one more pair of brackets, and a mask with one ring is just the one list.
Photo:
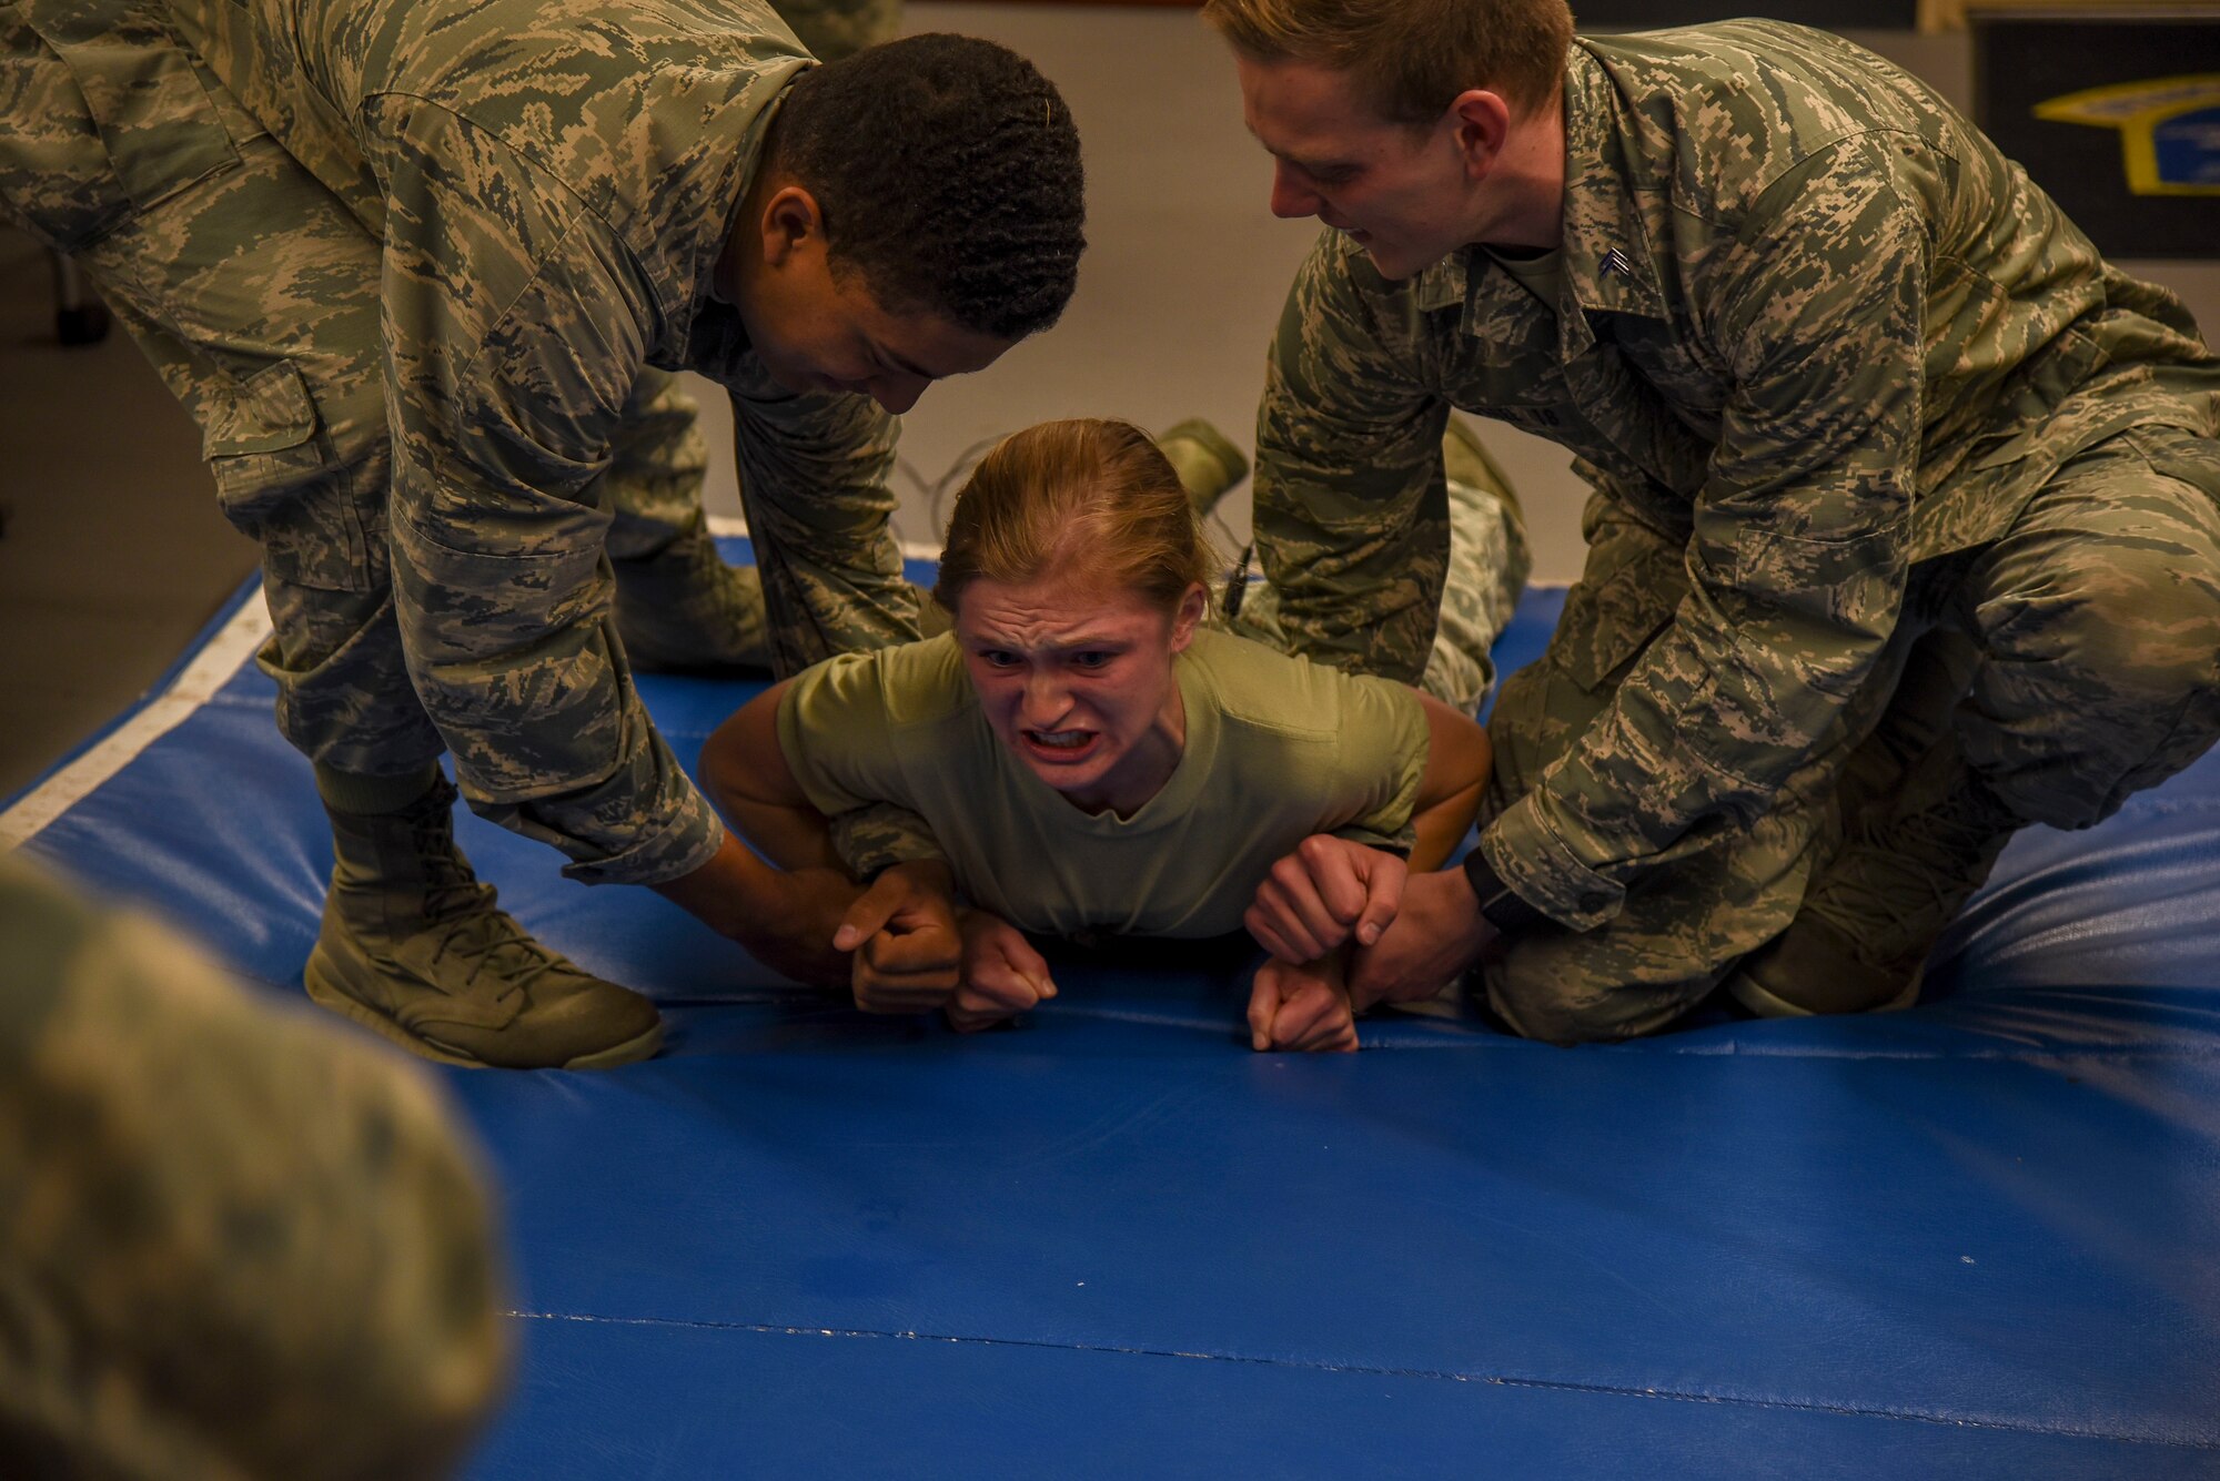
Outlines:
{"label": "right man's camouflage sleeve nearest the camera, ending at his watch", "polygon": [[1896,627],[1927,259],[1891,168],[1885,142],[1854,137],[1776,182],[1698,310],[1729,395],[1689,596],[1481,836],[1563,925],[1614,916],[1645,860],[1698,823],[1765,811]]}

